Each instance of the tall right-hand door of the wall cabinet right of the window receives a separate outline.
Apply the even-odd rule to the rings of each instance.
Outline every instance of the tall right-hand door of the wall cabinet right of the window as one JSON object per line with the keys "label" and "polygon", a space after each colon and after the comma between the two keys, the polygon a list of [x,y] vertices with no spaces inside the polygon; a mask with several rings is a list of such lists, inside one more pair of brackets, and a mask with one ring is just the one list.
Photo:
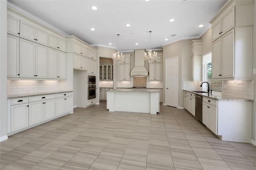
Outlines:
{"label": "tall right-hand door of the wall cabinet right of the window", "polygon": [[[221,37],[222,44],[222,78],[234,77],[234,29]],[[215,66],[215,65],[214,65]]]}

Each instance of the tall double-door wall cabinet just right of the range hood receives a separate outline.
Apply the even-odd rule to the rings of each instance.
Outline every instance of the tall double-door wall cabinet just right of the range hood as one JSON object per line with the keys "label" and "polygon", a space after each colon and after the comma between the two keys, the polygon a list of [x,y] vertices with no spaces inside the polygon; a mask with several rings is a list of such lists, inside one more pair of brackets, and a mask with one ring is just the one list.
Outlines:
{"label": "tall double-door wall cabinet just right of the range hood", "polygon": [[162,63],[149,64],[149,80],[150,81],[162,80]]}

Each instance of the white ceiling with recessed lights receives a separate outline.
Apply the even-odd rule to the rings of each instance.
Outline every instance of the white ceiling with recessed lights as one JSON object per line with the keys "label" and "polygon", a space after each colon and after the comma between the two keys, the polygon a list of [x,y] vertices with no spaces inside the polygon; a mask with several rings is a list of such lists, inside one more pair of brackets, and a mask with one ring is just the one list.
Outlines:
{"label": "white ceiling with recessed lights", "polygon": [[[199,38],[226,0],[8,0],[90,45],[161,49],[181,39]],[[96,6],[98,10],[92,10]],[[170,22],[173,18],[175,21]],[[130,27],[126,27],[130,23]],[[204,24],[204,27],[198,25]],[[91,31],[90,28],[94,28]],[[119,45],[116,33],[120,33]],[[176,34],[172,37],[172,34]],[[168,41],[164,41],[164,39]],[[112,43],[112,45],[109,45]],[[139,45],[135,45],[138,43]]]}

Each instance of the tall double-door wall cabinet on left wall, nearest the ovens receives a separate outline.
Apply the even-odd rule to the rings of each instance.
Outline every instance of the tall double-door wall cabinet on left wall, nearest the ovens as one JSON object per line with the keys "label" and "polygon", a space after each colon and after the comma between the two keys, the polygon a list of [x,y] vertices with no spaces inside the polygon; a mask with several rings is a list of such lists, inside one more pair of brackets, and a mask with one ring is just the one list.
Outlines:
{"label": "tall double-door wall cabinet on left wall, nearest the ovens", "polygon": [[66,53],[48,49],[48,78],[66,79]]}

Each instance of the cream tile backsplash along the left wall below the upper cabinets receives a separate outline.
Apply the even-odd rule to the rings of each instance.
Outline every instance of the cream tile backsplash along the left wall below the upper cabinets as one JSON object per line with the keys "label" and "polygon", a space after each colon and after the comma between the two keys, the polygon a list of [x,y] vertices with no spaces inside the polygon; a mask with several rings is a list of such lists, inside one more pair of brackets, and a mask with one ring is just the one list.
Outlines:
{"label": "cream tile backsplash along the left wall below the upper cabinets", "polygon": [[60,90],[58,80],[7,80],[7,95]]}

